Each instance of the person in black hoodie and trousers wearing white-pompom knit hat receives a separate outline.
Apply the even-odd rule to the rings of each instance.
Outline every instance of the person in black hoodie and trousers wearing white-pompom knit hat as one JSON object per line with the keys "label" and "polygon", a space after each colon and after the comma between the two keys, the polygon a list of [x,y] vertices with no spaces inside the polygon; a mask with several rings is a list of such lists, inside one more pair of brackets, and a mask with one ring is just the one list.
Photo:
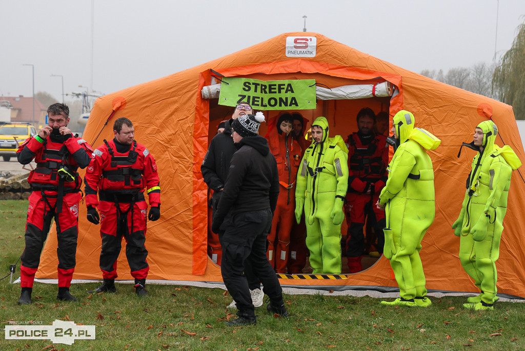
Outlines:
{"label": "person in black hoodie and trousers wearing white-pompom knit hat", "polygon": [[227,321],[228,326],[256,324],[255,307],[243,274],[246,262],[270,298],[268,312],[288,316],[279,280],[266,257],[266,237],[279,196],[279,174],[268,141],[257,134],[263,120],[264,115],[258,112],[233,121],[232,137],[238,150],[213,215],[212,230],[224,231],[220,236],[220,272],[239,310],[239,317]]}

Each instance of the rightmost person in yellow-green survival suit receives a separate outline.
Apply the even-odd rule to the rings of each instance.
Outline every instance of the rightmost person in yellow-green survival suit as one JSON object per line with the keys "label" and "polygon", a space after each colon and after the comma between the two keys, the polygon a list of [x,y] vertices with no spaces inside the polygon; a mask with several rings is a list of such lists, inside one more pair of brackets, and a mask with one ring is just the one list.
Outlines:
{"label": "rightmost person in yellow-green survival suit", "polygon": [[500,148],[495,144],[497,135],[496,124],[485,120],[476,127],[474,141],[461,146],[478,151],[472,159],[461,211],[452,225],[454,234],[460,237],[461,265],[481,291],[463,304],[470,310],[493,310],[498,300],[496,260],[503,218],[507,212],[511,172],[521,166],[510,146]]}

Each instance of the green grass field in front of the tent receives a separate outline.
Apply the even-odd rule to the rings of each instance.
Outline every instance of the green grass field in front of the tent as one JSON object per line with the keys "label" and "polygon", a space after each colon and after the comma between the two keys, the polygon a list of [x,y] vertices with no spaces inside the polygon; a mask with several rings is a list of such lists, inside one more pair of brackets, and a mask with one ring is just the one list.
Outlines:
{"label": "green grass field in front of the tent", "polygon": [[[0,201],[0,277],[24,248],[27,201]],[[93,264],[98,264],[98,257]],[[16,277],[19,277],[17,264]],[[176,269],[176,267],[174,267]],[[275,318],[266,304],[257,325],[229,328],[231,299],[221,289],[150,285],[139,299],[129,284],[114,294],[87,294],[97,283],[74,284],[76,303],[56,300],[54,284],[35,283],[33,304],[19,306],[19,284],[0,281],[0,321],[55,320],[95,325],[95,340],[69,346],[50,340],[0,341],[0,350],[524,350],[525,303],[465,310],[464,297],[432,299],[432,306],[385,308],[370,297],[285,295],[290,316]]]}

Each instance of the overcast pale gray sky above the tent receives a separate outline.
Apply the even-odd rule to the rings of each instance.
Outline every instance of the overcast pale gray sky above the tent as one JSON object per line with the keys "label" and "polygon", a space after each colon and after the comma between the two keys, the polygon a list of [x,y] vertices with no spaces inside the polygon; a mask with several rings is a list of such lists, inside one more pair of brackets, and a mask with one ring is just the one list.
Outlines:
{"label": "overcast pale gray sky above the tent", "polygon": [[[94,0],[92,90],[111,93],[283,32],[318,32],[405,69],[491,63],[525,19],[525,0]],[[91,0],[0,0],[0,95],[61,100],[91,85]],[[496,38],[496,18],[498,18]],[[496,46],[495,46],[496,45]],[[71,97],[66,97],[70,100]]]}

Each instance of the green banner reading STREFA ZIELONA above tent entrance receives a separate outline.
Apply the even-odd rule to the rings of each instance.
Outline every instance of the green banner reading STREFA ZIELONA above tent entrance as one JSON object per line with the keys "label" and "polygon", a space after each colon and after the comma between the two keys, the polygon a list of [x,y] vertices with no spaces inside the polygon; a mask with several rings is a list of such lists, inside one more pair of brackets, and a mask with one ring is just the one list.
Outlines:
{"label": "green banner reading STREFA ZIELONA above tent entrance", "polygon": [[219,105],[236,106],[247,102],[254,109],[314,109],[316,80],[259,81],[224,77],[220,84]]}

